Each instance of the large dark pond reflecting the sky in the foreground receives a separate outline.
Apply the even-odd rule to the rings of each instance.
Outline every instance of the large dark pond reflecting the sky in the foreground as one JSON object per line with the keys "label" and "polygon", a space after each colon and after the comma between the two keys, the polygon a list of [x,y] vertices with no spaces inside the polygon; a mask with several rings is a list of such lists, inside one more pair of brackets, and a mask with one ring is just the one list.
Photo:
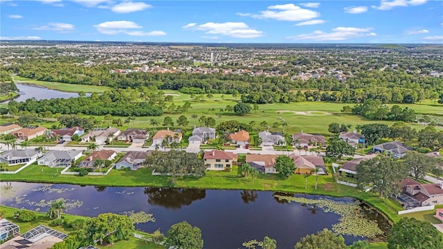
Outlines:
{"label": "large dark pond reflecting the sky in the foreground", "polygon": [[[48,201],[63,198],[66,213],[97,216],[105,212],[147,212],[155,222],[141,223],[136,229],[164,234],[181,221],[197,225],[202,231],[204,248],[242,248],[244,241],[261,240],[264,236],[277,240],[278,248],[293,248],[300,238],[323,228],[332,228],[340,216],[315,206],[279,201],[284,193],[247,190],[197,190],[159,187],[94,187],[41,183],[1,183],[1,205],[46,212]],[[352,203],[352,198],[293,195],[307,199],[328,199]],[[363,205],[363,204],[362,204]],[[388,221],[373,209],[365,208],[365,216],[378,222],[386,231]],[[362,237],[344,236],[347,244]]]}

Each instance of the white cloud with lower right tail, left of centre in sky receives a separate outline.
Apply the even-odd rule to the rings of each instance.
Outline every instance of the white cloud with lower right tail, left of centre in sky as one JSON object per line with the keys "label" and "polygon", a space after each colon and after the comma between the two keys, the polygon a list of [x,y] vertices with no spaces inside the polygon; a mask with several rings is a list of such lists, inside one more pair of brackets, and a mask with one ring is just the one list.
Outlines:
{"label": "white cloud with lower right tail, left of centre in sky", "polygon": [[159,36],[166,35],[165,32],[161,30],[154,30],[150,32],[145,32],[143,30],[131,30],[133,28],[143,28],[142,26],[134,23],[134,21],[105,21],[101,24],[96,24],[93,26],[97,29],[99,33],[105,35],[134,35],[134,36]]}

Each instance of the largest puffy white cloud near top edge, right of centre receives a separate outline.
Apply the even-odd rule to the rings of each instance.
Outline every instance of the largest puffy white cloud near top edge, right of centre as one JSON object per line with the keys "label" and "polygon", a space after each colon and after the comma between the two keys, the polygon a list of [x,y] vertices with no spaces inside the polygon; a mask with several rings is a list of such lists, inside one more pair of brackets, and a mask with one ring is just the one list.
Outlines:
{"label": "largest puffy white cloud near top edge, right of centre", "polygon": [[260,11],[260,14],[237,13],[237,15],[278,21],[305,21],[320,17],[319,12],[300,8],[293,3],[269,6],[267,10]]}

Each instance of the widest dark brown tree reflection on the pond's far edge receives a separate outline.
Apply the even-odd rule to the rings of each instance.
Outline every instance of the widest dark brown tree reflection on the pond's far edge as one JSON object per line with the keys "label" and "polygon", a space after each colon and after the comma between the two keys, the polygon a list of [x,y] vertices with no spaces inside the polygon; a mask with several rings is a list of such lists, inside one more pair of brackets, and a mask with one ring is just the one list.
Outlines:
{"label": "widest dark brown tree reflection on the pond's far edge", "polygon": [[147,203],[171,209],[179,209],[206,197],[206,190],[172,187],[145,187],[143,193],[147,195]]}

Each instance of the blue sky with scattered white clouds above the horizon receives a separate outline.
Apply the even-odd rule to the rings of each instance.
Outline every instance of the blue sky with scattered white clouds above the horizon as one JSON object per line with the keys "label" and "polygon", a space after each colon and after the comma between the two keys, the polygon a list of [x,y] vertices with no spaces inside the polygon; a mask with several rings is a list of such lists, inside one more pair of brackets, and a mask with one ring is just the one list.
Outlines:
{"label": "blue sky with scattered white clouds above the horizon", "polygon": [[1,39],[443,43],[443,1],[0,0]]}

